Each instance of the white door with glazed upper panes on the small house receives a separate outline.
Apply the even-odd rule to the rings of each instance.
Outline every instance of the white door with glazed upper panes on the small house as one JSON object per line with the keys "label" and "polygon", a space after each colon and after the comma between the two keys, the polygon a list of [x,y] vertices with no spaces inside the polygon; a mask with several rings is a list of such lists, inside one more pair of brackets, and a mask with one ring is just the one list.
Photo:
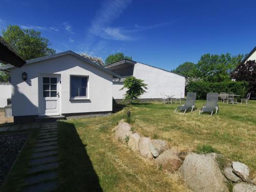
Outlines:
{"label": "white door with glazed upper panes on the small house", "polygon": [[40,115],[52,116],[60,114],[60,76],[56,74],[41,75],[39,81]]}

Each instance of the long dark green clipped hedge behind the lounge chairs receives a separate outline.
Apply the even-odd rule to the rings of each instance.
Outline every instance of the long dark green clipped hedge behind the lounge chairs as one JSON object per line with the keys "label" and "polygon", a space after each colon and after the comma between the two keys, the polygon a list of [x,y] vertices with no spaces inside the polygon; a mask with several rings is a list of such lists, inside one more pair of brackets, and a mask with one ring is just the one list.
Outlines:
{"label": "long dark green clipped hedge behind the lounge chairs", "polygon": [[234,93],[240,95],[238,100],[246,98],[249,90],[248,82],[244,81],[223,81],[223,82],[207,82],[207,81],[191,81],[187,84],[187,92],[196,92],[197,99],[206,99],[207,93]]}

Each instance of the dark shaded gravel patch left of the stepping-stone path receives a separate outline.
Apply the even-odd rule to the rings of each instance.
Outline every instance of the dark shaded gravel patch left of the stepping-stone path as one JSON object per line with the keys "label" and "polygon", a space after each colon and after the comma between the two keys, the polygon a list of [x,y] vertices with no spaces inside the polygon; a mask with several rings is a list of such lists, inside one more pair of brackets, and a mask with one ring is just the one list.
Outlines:
{"label": "dark shaded gravel patch left of the stepping-stone path", "polygon": [[2,185],[27,138],[27,134],[0,136],[0,185]]}

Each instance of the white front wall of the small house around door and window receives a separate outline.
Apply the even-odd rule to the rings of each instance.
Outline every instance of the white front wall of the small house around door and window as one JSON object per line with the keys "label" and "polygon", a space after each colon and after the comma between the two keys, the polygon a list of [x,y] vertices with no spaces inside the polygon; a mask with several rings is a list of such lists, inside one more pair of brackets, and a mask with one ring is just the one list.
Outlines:
{"label": "white front wall of the small house around door and window", "polygon": [[[22,73],[28,74],[26,81]],[[38,74],[60,74],[61,114],[112,111],[113,76],[86,62],[65,55],[11,70],[13,116],[38,115]],[[70,75],[88,75],[89,100],[70,100]]]}

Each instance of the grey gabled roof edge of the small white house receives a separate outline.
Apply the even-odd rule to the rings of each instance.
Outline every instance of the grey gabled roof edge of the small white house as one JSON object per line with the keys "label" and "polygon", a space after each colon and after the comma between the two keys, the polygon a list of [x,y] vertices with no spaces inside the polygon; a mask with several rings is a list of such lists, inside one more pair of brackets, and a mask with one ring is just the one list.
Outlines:
{"label": "grey gabled roof edge of the small white house", "polygon": [[[26,65],[29,65],[31,63],[35,63],[35,62],[39,62],[39,61],[43,61],[43,60],[47,60],[47,59],[52,59],[52,58],[56,58],[56,57],[60,57],[60,56],[64,56],[64,55],[72,55],[84,62],[87,62],[88,64],[106,72],[106,73],[109,73],[115,77],[120,77],[120,75],[112,72],[111,70],[108,70],[108,69],[105,69],[104,67],[98,65],[97,63],[91,61],[90,59],[88,58],[85,58],[85,57],[82,57],[81,55],[73,52],[73,51],[65,51],[65,52],[61,52],[61,53],[56,53],[56,54],[53,54],[53,55],[47,55],[47,56],[44,56],[44,57],[38,57],[38,58],[34,58],[34,59],[30,59],[30,60],[26,60]],[[0,70],[9,70],[11,68],[14,68],[14,66],[12,65],[6,65],[6,66],[0,66]]]}

